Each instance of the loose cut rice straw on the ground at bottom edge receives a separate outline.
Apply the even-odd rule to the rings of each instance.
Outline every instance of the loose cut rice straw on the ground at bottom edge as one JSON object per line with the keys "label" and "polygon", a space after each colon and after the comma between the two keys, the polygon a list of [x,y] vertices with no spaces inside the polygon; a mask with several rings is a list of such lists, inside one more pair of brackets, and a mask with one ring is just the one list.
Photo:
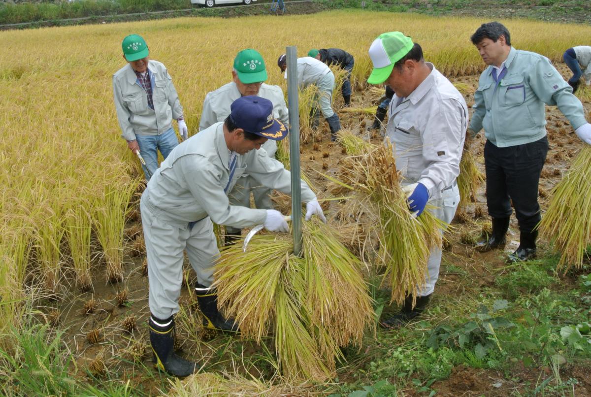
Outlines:
{"label": "loose cut rice straw on the ground at bottom edge", "polygon": [[180,380],[168,380],[172,388],[166,396],[312,396],[316,395],[304,386],[285,383],[272,385],[256,378],[245,378],[237,373],[222,376],[219,373],[203,372]]}

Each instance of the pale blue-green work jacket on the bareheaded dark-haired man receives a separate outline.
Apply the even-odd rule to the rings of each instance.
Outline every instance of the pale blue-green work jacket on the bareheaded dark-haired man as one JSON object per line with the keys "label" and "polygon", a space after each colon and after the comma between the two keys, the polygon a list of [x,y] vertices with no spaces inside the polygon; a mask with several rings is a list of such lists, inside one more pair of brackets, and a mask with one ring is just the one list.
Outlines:
{"label": "pale blue-green work jacket on the bareheaded dark-haired man", "polygon": [[511,47],[505,69],[493,73],[489,66],[480,74],[470,121],[475,134],[484,128],[499,148],[538,141],[546,135],[544,103],[558,106],[574,129],[587,122],[582,103],[548,58]]}

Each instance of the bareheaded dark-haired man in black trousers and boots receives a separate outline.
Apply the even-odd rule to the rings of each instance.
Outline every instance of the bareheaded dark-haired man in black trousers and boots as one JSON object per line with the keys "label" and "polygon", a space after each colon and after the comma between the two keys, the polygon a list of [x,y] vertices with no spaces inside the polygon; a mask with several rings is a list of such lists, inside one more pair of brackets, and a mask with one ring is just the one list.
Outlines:
{"label": "bareheaded dark-haired man in black trousers and boots", "polygon": [[519,246],[511,261],[535,256],[535,229],[541,220],[538,183],[548,153],[545,106],[556,105],[582,141],[591,144],[591,125],[583,105],[548,58],[511,47],[511,36],[499,22],[483,24],[470,38],[489,65],[474,93],[469,133],[484,128],[486,204],[492,233],[476,243],[480,252],[505,246],[511,200],[519,222]]}

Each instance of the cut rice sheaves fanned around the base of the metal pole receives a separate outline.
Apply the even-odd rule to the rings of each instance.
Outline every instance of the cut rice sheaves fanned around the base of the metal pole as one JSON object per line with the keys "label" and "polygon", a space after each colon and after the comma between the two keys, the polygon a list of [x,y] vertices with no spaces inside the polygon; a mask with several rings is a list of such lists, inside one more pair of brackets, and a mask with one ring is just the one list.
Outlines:
{"label": "cut rice sheaves fanned around the base of the metal pole", "polygon": [[243,338],[274,333],[288,379],[324,380],[342,358],[340,346],[360,344],[374,312],[361,262],[332,227],[303,224],[303,258],[290,235],[257,235],[223,250],[216,265],[218,305],[235,317]]}

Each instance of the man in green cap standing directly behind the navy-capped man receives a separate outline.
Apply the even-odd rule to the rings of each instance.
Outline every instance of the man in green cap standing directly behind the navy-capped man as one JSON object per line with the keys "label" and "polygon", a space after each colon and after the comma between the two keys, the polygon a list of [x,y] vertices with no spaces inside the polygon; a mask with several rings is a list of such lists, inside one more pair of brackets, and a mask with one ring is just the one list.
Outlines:
{"label": "man in green cap standing directly behind the navy-capped man", "polygon": [[[230,114],[230,105],[242,96],[256,95],[268,99],[273,104],[273,116],[287,125],[289,116],[283,90],[279,86],[265,84],[267,69],[261,54],[252,48],[239,51],[234,58],[232,82],[215,91],[207,93],[203,102],[203,112],[199,121],[199,131],[224,121]],[[277,142],[269,139],[262,147],[270,158],[275,158]],[[229,194],[232,205],[250,207],[251,192],[258,209],[271,209],[271,189],[261,186],[249,175],[242,175]],[[239,238],[240,229],[226,226],[225,243],[228,245]]]}

